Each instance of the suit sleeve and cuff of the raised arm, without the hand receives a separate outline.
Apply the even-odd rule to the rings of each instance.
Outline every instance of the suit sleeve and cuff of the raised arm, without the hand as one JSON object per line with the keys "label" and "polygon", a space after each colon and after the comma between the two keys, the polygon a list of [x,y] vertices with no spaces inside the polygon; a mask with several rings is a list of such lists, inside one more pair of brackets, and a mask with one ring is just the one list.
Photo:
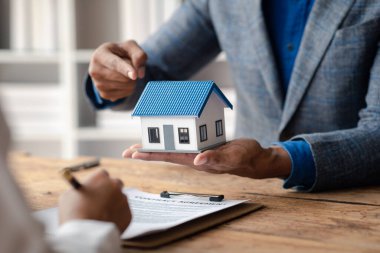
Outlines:
{"label": "suit sleeve and cuff of the raised arm, without the hand", "polygon": [[133,109],[148,81],[186,80],[215,58],[221,49],[210,18],[208,1],[185,1],[170,20],[145,41],[142,48],[148,55],[146,76],[138,81],[130,97],[114,105],[107,101],[99,103],[90,87],[92,81],[86,82],[86,91],[91,91],[87,95],[95,107]]}

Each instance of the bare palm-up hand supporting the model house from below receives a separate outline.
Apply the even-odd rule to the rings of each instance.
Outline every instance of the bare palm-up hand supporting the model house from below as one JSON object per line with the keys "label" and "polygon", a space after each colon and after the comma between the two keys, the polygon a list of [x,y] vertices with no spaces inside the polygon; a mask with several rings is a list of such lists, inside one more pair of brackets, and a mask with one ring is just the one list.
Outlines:
{"label": "bare palm-up hand supporting the model house from below", "polygon": [[286,178],[290,174],[291,161],[281,147],[264,149],[255,140],[238,139],[227,142],[214,150],[200,154],[140,153],[139,145],[123,152],[125,158],[148,161],[165,161],[191,166],[210,173],[229,173],[250,178]]}

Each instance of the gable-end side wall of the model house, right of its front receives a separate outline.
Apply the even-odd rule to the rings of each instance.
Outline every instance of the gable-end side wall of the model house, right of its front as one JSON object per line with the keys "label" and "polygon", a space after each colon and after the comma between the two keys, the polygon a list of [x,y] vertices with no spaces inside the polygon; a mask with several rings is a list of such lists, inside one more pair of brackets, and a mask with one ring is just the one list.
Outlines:
{"label": "gable-end side wall of the model house, right of its front", "polygon": [[[230,110],[230,109],[228,109]],[[223,135],[216,137],[216,126],[215,121],[222,120],[223,122]],[[200,141],[199,127],[201,125],[207,125],[207,141]],[[218,95],[212,93],[208,103],[203,109],[202,115],[199,119],[196,119],[196,130],[197,130],[197,143],[198,148],[203,149],[210,145],[226,141],[226,129],[224,122],[224,103],[219,99]]]}

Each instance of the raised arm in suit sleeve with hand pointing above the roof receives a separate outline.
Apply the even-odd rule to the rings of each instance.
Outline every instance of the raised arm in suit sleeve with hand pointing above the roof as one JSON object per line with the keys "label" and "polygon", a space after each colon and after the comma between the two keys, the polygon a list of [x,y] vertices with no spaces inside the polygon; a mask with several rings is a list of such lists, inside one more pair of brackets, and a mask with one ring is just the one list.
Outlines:
{"label": "raised arm in suit sleeve with hand pointing above the roof", "polygon": [[149,80],[186,80],[215,58],[221,49],[208,1],[185,1],[141,47],[132,41],[107,43],[94,52],[86,91],[96,108],[133,109]]}

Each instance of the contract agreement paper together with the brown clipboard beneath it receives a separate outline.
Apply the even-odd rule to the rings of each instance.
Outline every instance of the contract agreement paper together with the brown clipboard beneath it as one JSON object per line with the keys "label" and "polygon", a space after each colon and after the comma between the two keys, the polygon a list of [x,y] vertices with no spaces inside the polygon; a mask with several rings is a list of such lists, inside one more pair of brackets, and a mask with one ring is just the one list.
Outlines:
{"label": "contract agreement paper together with the brown clipboard beneath it", "polygon": [[[125,188],[123,192],[128,196],[132,221],[122,233],[121,239],[124,242],[129,241],[129,245],[137,245],[137,247],[158,246],[168,243],[261,207],[258,204],[250,204],[249,207],[240,205],[248,200],[216,202],[192,195],[163,198],[159,194],[142,192],[132,188]],[[232,207],[235,206],[237,206],[237,209],[233,211]],[[226,212],[226,214],[223,212]],[[211,217],[211,215],[213,216]],[[58,230],[57,208],[37,211],[34,216],[45,224],[48,235],[54,235]],[[210,216],[210,219],[200,220],[200,218],[206,219],[208,216]],[[181,225],[183,227],[180,227]],[[163,232],[170,233],[171,229],[177,229],[177,231],[163,238]],[[152,235],[151,237],[156,241],[150,240],[152,243],[147,243],[149,235]],[[144,243],[138,242],[140,238],[143,238]],[[124,244],[128,245],[128,243]]]}

